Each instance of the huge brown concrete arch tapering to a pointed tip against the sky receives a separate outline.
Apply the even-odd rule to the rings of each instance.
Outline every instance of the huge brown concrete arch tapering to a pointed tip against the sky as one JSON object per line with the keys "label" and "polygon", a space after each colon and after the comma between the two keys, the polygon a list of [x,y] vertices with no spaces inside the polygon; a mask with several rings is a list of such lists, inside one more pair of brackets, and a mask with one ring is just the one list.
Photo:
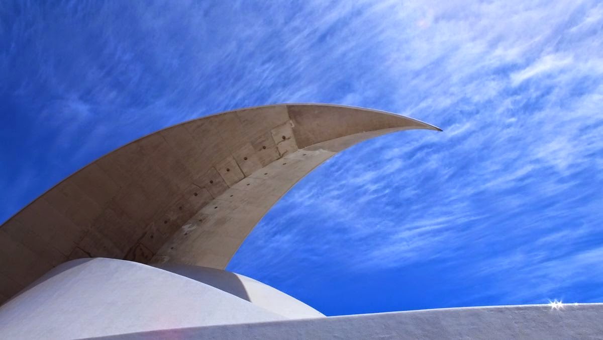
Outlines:
{"label": "huge brown concrete arch tapering to a pointed tip against the sky", "polygon": [[66,260],[223,269],[299,179],[368,138],[437,127],[358,107],[280,104],[140,138],[82,168],[0,228],[0,299]]}

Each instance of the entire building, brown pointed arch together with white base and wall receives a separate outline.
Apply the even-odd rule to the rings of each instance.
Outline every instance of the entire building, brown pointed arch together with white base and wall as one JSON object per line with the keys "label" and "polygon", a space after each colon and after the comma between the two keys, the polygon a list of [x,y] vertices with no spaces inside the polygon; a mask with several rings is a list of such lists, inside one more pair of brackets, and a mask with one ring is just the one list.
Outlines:
{"label": "entire building, brown pointed arch together with white base and wall", "polygon": [[408,129],[440,130],[358,107],[280,104],[188,121],[99,158],[0,227],[0,295],[8,300],[0,307],[0,334],[600,335],[599,304],[324,318],[223,270],[270,207],[312,169],[360,141]]}

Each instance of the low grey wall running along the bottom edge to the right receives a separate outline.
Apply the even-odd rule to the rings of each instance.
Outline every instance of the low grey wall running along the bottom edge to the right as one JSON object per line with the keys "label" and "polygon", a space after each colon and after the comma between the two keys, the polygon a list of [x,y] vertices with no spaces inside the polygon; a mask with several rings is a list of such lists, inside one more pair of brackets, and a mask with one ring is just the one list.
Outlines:
{"label": "low grey wall running along the bottom edge to the right", "polygon": [[602,339],[603,304],[472,307],[134,333],[103,339]]}

